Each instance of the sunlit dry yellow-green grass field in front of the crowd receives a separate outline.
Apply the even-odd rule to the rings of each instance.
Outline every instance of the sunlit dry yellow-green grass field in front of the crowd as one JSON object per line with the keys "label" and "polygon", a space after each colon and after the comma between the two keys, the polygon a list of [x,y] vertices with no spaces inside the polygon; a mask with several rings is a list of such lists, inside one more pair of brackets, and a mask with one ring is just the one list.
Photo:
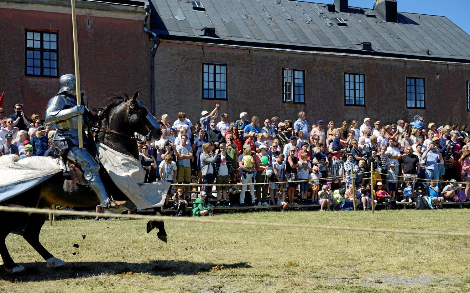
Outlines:
{"label": "sunlit dry yellow-green grass field in front of the crowd", "polygon": [[[469,232],[470,210],[274,211],[226,220]],[[45,261],[20,236],[7,246],[26,270],[0,274],[5,292],[469,292],[470,239],[462,237],[166,223],[46,223],[41,241],[67,262]],[[82,236],[85,235],[85,238]],[[78,248],[74,247],[78,244]],[[223,266],[223,267],[222,267]]]}

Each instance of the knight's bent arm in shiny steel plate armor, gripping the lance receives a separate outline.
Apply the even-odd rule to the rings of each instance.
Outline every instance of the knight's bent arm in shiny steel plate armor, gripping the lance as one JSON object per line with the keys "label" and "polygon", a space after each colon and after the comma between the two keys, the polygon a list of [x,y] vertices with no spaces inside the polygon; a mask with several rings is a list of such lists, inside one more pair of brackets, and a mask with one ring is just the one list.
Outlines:
{"label": "knight's bent arm in shiny steel plate armor, gripping the lance", "polygon": [[84,105],[71,106],[62,96],[55,96],[49,101],[46,110],[45,123],[58,123],[67,121],[75,116],[85,113]]}

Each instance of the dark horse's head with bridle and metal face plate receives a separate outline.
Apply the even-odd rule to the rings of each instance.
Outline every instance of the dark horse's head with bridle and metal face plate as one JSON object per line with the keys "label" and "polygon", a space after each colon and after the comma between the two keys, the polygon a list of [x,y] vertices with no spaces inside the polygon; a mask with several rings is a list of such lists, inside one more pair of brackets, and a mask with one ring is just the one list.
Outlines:
{"label": "dark horse's head with bridle and metal face plate", "polygon": [[139,101],[139,91],[127,103],[127,120],[135,132],[145,136],[147,140],[159,140],[162,129],[152,113]]}

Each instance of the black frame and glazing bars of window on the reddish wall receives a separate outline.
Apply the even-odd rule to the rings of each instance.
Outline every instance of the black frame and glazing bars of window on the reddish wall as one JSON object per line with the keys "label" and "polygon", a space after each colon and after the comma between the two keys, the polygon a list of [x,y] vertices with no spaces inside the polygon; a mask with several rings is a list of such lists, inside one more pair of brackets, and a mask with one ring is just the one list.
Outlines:
{"label": "black frame and glazing bars of window on the reddish wall", "polygon": [[[28,32],[31,32],[33,33],[33,36],[34,36],[34,33],[39,33],[40,34],[40,39],[39,39],[39,44],[40,44],[40,47],[39,48],[35,48],[34,46],[33,47],[28,47],[28,40],[31,40],[31,39],[28,39]],[[49,34],[49,41],[45,40],[44,39],[44,34]],[[51,41],[50,40],[50,35],[55,35],[55,49],[51,49],[50,48],[50,42],[54,42],[54,41]],[[49,48],[44,48],[44,42],[49,42]],[[34,43],[34,37],[33,37],[33,43]],[[28,51],[32,51],[33,52],[33,74],[28,74],[28,67],[31,68],[31,66],[28,66],[28,59],[31,59],[31,58],[28,58]],[[39,58],[35,58],[34,56],[34,52],[39,52],[40,53],[40,56]],[[49,55],[49,58],[48,59],[45,59],[45,53],[47,53]],[[50,53],[55,53],[55,60],[54,59],[50,59]],[[38,66],[34,66],[34,60],[38,60],[39,59],[39,63],[40,63],[40,70],[39,70],[39,74],[34,74],[34,68],[38,68]],[[45,67],[44,64],[45,64],[45,61],[55,61],[55,68],[54,67],[50,67],[50,63],[49,63],[49,67]],[[45,70],[44,69],[55,69],[55,75],[45,75],[44,72]],[[49,71],[50,73],[50,71]],[[48,78],[57,78],[59,77],[59,32],[58,31],[47,31],[47,30],[24,30],[24,75],[25,76],[36,76],[36,77],[48,77]]]}

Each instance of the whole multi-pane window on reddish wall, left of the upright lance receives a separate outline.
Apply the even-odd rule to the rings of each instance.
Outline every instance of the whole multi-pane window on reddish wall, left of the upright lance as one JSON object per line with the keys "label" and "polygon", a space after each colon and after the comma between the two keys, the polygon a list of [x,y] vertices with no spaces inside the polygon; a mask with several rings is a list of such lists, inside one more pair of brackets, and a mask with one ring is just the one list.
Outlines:
{"label": "whole multi-pane window on reddish wall, left of the upright lance", "polygon": [[25,74],[57,77],[57,33],[26,30]]}

